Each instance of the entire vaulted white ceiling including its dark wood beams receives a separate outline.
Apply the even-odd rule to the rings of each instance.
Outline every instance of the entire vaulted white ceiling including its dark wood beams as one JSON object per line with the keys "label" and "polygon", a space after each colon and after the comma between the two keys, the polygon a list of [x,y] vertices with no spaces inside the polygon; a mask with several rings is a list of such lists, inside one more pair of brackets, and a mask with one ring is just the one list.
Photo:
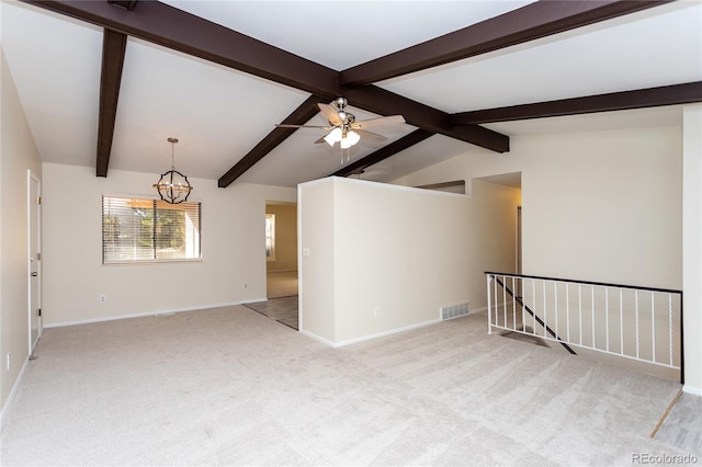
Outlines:
{"label": "entire vaulted white ceiling including its dark wood beams", "polygon": [[[43,160],[294,186],[389,181],[532,133],[679,124],[702,102],[702,1],[3,1]],[[349,150],[317,103],[400,114]]]}

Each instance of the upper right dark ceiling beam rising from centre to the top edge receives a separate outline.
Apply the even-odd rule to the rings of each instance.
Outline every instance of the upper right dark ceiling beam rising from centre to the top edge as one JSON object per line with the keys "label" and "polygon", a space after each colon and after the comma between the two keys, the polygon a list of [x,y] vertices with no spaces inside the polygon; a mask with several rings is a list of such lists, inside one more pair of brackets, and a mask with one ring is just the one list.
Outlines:
{"label": "upper right dark ceiling beam rising from centre to the top edge", "polygon": [[347,87],[365,86],[670,1],[672,0],[542,0],[348,68],[340,72],[339,83]]}

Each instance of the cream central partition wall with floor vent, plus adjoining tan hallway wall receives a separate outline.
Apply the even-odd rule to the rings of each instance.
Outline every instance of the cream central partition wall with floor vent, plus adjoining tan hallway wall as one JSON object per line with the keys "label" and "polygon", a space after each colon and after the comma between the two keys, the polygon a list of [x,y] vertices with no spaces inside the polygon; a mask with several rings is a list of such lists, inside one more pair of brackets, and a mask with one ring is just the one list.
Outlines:
{"label": "cream central partition wall with floor vent, plus adjoining tan hallway wall", "polygon": [[442,306],[485,306],[471,277],[513,271],[519,193],[476,185],[473,200],[348,179],[301,185],[302,331],[342,345],[437,321]]}

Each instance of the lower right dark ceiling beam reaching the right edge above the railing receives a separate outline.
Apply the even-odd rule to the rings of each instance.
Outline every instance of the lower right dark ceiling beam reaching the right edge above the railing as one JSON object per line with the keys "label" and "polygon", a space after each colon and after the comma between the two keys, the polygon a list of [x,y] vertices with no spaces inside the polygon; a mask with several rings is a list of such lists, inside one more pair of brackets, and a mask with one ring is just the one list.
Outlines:
{"label": "lower right dark ceiling beam reaching the right edge above the railing", "polygon": [[519,119],[689,104],[693,102],[702,102],[702,81],[461,112],[452,115],[450,119],[454,125],[475,125],[482,123],[513,122]]}

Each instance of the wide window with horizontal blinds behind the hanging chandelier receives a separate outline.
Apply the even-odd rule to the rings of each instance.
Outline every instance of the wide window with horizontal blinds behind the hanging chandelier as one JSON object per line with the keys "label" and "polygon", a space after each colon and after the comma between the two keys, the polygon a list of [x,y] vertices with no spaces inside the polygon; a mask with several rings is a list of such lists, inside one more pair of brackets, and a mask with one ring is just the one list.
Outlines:
{"label": "wide window with horizontal blinds behind the hanging chandelier", "polygon": [[201,259],[201,204],[102,196],[102,263]]}

